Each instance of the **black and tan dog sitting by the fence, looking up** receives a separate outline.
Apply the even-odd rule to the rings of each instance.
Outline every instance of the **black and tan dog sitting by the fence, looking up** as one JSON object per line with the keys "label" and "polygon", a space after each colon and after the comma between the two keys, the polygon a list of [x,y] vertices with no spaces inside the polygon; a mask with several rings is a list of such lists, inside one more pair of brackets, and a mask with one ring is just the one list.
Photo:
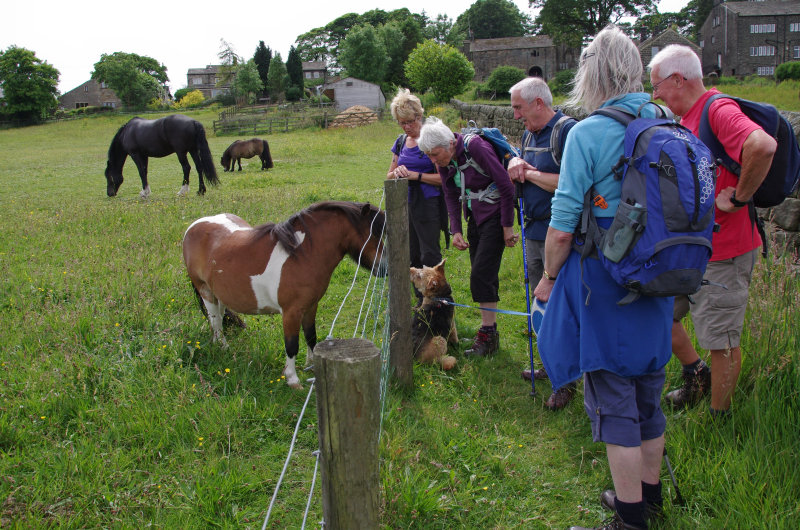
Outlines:
{"label": "black and tan dog sitting by the fence, looking up", "polygon": [[414,309],[411,336],[414,356],[421,363],[438,363],[444,370],[456,365],[456,358],[447,355],[447,343],[457,344],[458,335],[453,321],[455,308],[441,299],[452,302],[452,291],[444,276],[444,262],[422,269],[411,267],[411,282],[422,293],[422,303]]}

